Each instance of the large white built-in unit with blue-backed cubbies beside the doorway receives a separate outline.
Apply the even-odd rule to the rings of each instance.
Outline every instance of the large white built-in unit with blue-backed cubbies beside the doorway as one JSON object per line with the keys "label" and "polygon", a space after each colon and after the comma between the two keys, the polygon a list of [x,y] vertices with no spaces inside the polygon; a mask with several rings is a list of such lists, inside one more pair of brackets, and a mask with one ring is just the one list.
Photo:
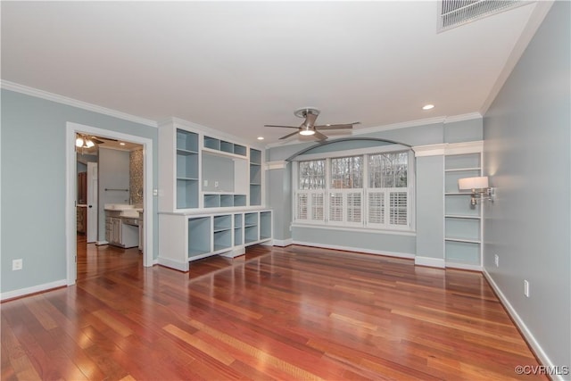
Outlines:
{"label": "large white built-in unit with blue-backed cubbies beside the doorway", "polygon": [[[236,138],[236,140],[239,140]],[[272,243],[264,210],[264,154],[184,120],[159,126],[159,257],[187,271],[211,255]]]}

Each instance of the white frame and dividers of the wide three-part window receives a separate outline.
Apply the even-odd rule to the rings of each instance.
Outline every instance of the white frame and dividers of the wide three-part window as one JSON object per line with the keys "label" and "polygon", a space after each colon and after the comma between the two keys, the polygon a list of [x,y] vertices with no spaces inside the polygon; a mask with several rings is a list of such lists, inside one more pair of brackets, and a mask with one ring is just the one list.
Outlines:
{"label": "white frame and dividers of the wide three-part window", "polygon": [[[406,187],[393,187],[393,188],[369,188],[368,181],[368,155],[377,153],[393,153],[407,151],[409,153],[409,161],[407,168],[407,186]],[[363,188],[332,188],[331,187],[331,159],[348,157],[348,156],[363,156]],[[326,188],[325,189],[315,189],[315,190],[300,190],[299,187],[299,164],[298,162],[307,162],[311,160],[326,160]],[[302,225],[319,225],[321,227],[331,227],[331,228],[348,228],[348,229],[365,229],[365,230],[381,230],[391,233],[414,233],[415,227],[415,216],[414,216],[414,199],[415,199],[415,178],[414,178],[414,154],[411,152],[409,147],[403,145],[390,145],[390,146],[380,146],[380,147],[369,147],[351,151],[336,151],[332,153],[313,153],[305,154],[297,157],[294,161],[293,166],[293,185],[294,185],[294,200],[293,200],[293,216],[294,216],[294,226]],[[369,200],[368,196],[371,193],[384,192],[384,202],[385,202],[385,218],[382,223],[369,222]],[[406,225],[392,225],[390,224],[390,195],[392,192],[405,192],[407,194],[407,224]],[[312,219],[311,208],[313,207],[311,203],[312,193],[323,193],[324,197],[324,213],[323,219]],[[347,197],[352,193],[360,193],[361,197],[361,220],[360,222],[354,222],[348,220],[348,209],[347,209]],[[299,219],[297,214],[297,197],[300,194],[308,194],[308,218]],[[330,202],[331,197],[334,194],[341,194],[343,196],[343,207],[342,207],[342,220],[334,220],[333,216],[330,216]]]}

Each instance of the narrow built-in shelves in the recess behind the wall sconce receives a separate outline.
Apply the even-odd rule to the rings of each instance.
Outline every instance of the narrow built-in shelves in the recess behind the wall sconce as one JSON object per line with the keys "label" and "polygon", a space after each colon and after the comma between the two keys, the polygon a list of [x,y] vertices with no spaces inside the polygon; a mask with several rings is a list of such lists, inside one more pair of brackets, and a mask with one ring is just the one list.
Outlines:
{"label": "narrow built-in shelves in the recess behind the wall sconce", "polygon": [[482,265],[482,205],[470,205],[471,193],[459,191],[459,178],[482,174],[482,152],[447,154],[444,158],[444,251],[448,267]]}

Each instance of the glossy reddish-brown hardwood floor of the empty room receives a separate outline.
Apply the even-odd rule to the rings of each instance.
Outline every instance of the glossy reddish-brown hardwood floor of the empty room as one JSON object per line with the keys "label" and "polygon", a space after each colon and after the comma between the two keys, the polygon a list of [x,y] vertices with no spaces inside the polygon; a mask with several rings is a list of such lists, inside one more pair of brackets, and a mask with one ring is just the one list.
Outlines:
{"label": "glossy reddish-brown hardwood floor of the empty room", "polygon": [[254,246],[189,273],[87,248],[79,281],[2,304],[2,380],[546,379],[476,272]]}

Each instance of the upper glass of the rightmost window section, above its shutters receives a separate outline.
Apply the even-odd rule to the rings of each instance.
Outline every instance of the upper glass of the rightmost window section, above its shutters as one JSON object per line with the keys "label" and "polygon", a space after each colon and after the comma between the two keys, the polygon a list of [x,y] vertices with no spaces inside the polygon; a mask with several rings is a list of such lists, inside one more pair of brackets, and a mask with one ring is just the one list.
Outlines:
{"label": "upper glass of the rightmost window section, above its shutters", "polygon": [[409,153],[377,153],[368,156],[368,186],[372,188],[406,187]]}

